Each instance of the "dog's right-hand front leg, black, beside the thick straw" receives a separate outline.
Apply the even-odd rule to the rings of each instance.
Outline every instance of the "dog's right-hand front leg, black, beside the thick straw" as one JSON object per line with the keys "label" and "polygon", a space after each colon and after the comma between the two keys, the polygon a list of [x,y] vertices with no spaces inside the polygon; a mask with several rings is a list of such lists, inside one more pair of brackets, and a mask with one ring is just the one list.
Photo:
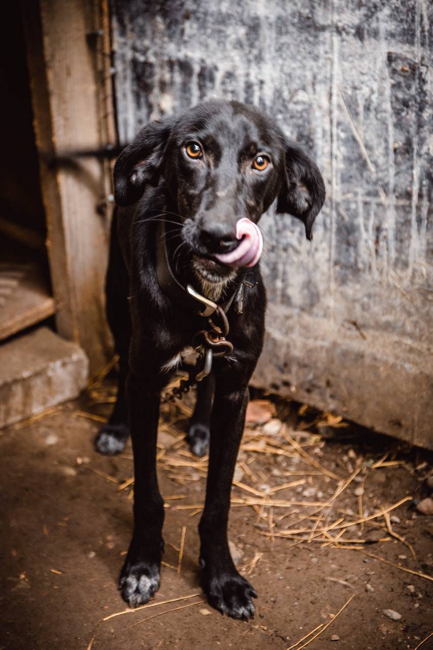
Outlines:
{"label": "dog's right-hand front leg, black, beside the thick straw", "polygon": [[256,597],[256,592],[237,572],[227,541],[231,481],[248,403],[245,383],[235,388],[237,383],[236,378],[231,378],[230,385],[217,378],[206,500],[199,525],[200,567],[202,588],[209,603],[228,616],[249,619],[254,616],[252,597]]}

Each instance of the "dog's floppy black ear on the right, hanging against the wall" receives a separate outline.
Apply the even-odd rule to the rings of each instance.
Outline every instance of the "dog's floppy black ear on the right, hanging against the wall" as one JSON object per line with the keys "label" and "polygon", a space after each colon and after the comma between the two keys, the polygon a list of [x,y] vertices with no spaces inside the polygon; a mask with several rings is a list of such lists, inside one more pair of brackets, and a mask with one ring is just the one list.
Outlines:
{"label": "dog's floppy black ear on the right, hanging against the wall", "polygon": [[304,222],[307,239],[325,198],[325,188],[317,164],[293,142],[285,144],[285,173],[276,211],[297,216]]}

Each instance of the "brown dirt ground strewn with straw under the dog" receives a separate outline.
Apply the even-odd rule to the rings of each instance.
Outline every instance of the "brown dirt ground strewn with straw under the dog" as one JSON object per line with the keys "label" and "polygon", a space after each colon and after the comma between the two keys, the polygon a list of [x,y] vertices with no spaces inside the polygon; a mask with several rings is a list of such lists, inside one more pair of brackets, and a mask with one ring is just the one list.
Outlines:
{"label": "brown dirt ground strewn with straw under the dog", "polygon": [[[198,586],[205,461],[182,440],[188,409],[170,407],[159,438],[161,588],[150,608],[104,621],[127,609],[116,582],[132,506],[131,486],[119,489],[131,448],[116,458],[92,448],[104,398],[106,383],[1,432],[0,650],[299,650],[318,633],[311,650],[414,650],[433,632],[432,517],[416,509],[431,454],[294,402],[276,402],[266,424],[250,422],[235,474],[231,548],[259,595],[254,620],[222,617]],[[269,418],[264,407],[252,419]],[[433,636],[421,647],[433,648]]]}

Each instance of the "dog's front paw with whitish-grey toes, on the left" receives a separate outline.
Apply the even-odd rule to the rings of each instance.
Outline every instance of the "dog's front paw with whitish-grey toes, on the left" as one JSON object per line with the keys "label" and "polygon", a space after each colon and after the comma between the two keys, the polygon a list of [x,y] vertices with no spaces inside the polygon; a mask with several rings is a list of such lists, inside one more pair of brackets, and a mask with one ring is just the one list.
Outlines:
{"label": "dog's front paw with whitish-grey toes, on the left", "polygon": [[138,607],[148,602],[159,589],[159,567],[153,564],[129,564],[125,562],[120,574],[119,589],[129,607]]}

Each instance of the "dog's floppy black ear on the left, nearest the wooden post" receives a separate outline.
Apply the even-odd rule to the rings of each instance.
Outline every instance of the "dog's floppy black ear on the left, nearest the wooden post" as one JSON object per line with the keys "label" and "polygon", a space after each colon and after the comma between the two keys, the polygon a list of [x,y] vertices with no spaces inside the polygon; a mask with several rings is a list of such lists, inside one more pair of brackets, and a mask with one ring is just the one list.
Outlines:
{"label": "dog's floppy black ear on the left, nearest the wooden post", "polygon": [[143,127],[122,151],[114,166],[114,200],[125,207],[137,203],[146,184],[157,187],[164,149],[176,120],[166,118]]}

